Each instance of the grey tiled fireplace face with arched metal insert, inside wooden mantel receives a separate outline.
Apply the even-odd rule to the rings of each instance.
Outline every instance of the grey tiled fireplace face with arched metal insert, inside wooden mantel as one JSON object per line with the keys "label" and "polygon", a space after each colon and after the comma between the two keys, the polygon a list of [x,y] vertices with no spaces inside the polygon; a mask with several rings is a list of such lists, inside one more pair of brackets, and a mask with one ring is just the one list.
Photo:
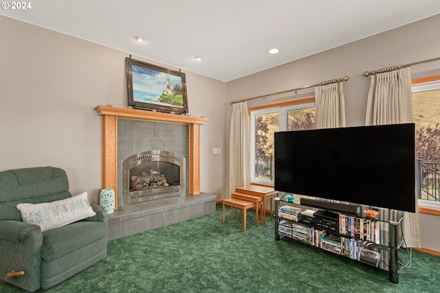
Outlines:
{"label": "grey tiled fireplace face with arched metal insert, inside wooden mantel", "polygon": [[[137,197],[140,201],[172,196],[159,192],[159,189],[173,189],[170,186],[158,189],[148,186],[144,191],[133,191],[131,177],[142,172],[148,173],[148,177],[156,176],[151,174],[155,172],[159,176],[171,176],[170,183],[178,180],[178,185],[183,187],[178,195],[189,194],[186,188],[189,181],[186,178],[190,176],[186,163],[190,160],[188,128],[186,124],[118,119],[118,207],[136,202],[135,196],[142,194],[152,195]],[[127,200],[130,194],[133,200]]]}

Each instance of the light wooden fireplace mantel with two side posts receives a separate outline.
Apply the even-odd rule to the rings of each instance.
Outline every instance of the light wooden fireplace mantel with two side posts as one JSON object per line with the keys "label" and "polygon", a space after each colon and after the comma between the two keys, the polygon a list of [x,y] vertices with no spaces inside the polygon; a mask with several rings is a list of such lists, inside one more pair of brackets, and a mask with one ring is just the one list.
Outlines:
{"label": "light wooden fireplace mantel with two side posts", "polygon": [[200,125],[207,118],[159,113],[147,110],[96,106],[102,116],[102,188],[115,190],[115,208],[118,208],[118,119],[156,121],[189,126],[189,194],[200,194]]}

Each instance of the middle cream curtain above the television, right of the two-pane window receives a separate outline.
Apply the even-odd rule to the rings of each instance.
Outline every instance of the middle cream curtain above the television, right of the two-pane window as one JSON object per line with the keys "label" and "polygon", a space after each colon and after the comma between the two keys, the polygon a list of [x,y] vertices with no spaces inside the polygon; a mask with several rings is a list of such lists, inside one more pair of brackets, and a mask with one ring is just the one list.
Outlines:
{"label": "middle cream curtain above the television, right of the two-pane window", "polygon": [[345,102],[342,82],[315,88],[316,128],[345,127]]}

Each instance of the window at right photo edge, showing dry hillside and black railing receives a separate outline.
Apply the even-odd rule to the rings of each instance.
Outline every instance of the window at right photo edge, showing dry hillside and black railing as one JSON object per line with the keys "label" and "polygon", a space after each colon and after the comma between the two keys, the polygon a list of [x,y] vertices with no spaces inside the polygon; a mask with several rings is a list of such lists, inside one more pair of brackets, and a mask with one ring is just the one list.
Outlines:
{"label": "window at right photo edge, showing dry hillside and black railing", "polygon": [[440,208],[440,77],[412,86],[416,156],[420,158],[419,205]]}

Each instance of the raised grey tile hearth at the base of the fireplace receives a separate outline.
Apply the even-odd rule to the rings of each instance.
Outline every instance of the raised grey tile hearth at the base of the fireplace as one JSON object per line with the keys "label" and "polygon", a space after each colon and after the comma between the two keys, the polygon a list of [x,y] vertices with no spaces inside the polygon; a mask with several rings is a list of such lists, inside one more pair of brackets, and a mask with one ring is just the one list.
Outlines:
{"label": "raised grey tile hearth at the base of the fireplace", "polygon": [[109,215],[108,240],[198,218],[215,212],[217,196],[173,196],[124,205]]}

